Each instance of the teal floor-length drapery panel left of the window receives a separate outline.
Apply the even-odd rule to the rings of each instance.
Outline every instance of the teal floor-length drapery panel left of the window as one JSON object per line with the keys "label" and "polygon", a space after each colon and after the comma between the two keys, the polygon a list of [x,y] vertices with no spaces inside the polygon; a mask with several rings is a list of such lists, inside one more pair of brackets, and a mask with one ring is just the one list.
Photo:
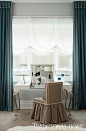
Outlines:
{"label": "teal floor-length drapery panel left of the window", "polygon": [[13,110],[11,2],[0,2],[0,110]]}

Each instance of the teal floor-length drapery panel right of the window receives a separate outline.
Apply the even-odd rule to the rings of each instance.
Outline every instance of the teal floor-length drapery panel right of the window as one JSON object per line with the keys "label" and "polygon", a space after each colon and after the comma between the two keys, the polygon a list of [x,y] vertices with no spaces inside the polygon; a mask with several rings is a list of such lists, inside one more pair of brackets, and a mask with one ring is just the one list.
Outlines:
{"label": "teal floor-length drapery panel right of the window", "polygon": [[86,108],[86,2],[74,2],[72,109]]}

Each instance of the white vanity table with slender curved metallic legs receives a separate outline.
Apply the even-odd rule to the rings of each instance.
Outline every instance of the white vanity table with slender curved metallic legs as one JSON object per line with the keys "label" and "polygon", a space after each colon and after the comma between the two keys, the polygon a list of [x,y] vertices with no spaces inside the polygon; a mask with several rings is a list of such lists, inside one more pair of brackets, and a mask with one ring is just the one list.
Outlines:
{"label": "white vanity table with slender curved metallic legs", "polygon": [[[55,81],[57,82],[57,81]],[[37,90],[37,89],[44,89],[45,86],[43,85],[36,85],[35,88],[30,88],[30,83],[26,83],[26,84],[15,84],[14,85],[14,94],[15,95],[18,95],[18,100],[19,100],[19,108],[20,108],[20,99],[19,99],[19,91],[21,90]],[[69,102],[69,107],[68,107],[68,111],[69,111],[69,114],[70,114],[70,105],[71,105],[71,102],[72,102],[72,86],[71,84],[69,83],[63,83],[63,89],[66,91],[66,99],[65,99],[65,107],[66,107],[66,102],[67,102],[67,97],[68,97],[68,94],[70,94],[70,102]],[[16,103],[16,99],[14,98],[14,102],[15,102],[15,105],[16,105],[16,109],[17,109],[17,113],[18,113],[18,107],[17,107],[17,103]]]}

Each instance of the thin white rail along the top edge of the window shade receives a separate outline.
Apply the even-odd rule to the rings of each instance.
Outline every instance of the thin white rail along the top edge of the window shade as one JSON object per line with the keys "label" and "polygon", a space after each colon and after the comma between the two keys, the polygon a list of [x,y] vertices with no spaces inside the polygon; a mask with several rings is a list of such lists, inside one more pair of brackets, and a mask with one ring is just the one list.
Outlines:
{"label": "thin white rail along the top edge of the window shade", "polygon": [[57,17],[58,17],[58,18],[63,18],[63,17],[64,17],[64,18],[68,18],[68,17],[69,17],[69,18],[73,18],[73,16],[12,16],[12,17],[13,17],[13,18],[26,18],[26,17],[27,17],[27,18],[29,18],[29,17],[30,17],[30,18],[33,18],[33,17],[41,17],[41,18],[42,18],[42,17],[43,17],[43,18],[44,18],[44,17],[45,17],[45,18],[57,18]]}

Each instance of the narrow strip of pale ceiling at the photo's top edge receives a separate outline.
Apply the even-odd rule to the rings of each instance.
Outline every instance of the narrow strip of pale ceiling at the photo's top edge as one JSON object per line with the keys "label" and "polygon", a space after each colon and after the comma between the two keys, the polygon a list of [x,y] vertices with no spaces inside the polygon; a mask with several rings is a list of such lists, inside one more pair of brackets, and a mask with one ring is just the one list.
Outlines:
{"label": "narrow strip of pale ceiling at the photo's top edge", "polygon": [[3,1],[11,1],[13,3],[73,3],[73,1],[83,1],[83,0],[3,0]]}

